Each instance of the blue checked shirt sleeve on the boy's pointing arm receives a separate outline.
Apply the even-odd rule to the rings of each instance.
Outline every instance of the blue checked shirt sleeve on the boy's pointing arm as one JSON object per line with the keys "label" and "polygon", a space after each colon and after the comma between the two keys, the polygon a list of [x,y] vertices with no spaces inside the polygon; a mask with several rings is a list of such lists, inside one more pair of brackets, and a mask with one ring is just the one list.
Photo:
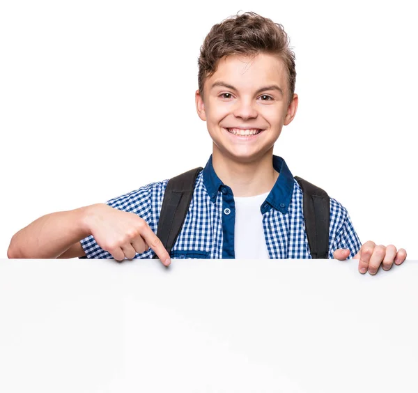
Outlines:
{"label": "blue checked shirt sleeve on the boy's pointing arm", "polygon": [[[107,205],[118,210],[134,213],[143,218],[154,233],[157,233],[158,218],[162,206],[164,191],[168,180],[158,183],[150,183],[139,190],[118,196],[107,201]],[[86,256],[82,259],[113,259],[113,256],[95,241],[93,236],[80,240]],[[134,259],[150,259],[153,257],[153,250],[149,249],[141,254],[137,253]]]}

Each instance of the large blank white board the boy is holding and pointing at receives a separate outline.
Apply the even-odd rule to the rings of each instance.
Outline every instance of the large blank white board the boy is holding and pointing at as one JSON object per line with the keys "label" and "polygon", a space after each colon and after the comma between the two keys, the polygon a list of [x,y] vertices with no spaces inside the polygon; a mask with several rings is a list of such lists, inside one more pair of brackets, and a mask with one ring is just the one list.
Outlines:
{"label": "large blank white board the boy is holding and pointing at", "polygon": [[416,393],[417,278],[417,261],[0,260],[0,391]]}

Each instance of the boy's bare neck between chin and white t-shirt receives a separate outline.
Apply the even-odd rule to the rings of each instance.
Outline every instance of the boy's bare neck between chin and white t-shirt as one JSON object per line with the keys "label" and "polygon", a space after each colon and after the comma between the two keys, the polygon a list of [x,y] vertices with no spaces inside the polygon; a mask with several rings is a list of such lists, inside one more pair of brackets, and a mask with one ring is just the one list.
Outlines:
{"label": "boy's bare neck between chin and white t-shirt", "polygon": [[226,157],[214,146],[213,169],[234,196],[255,196],[269,192],[276,183],[279,173],[273,168],[273,149],[251,162],[237,162]]}

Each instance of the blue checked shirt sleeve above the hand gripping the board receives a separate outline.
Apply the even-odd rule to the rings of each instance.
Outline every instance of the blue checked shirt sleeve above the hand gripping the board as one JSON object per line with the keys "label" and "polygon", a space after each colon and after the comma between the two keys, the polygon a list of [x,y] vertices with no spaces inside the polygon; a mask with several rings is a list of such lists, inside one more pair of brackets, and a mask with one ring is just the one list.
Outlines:
{"label": "blue checked shirt sleeve above the hand gripping the board", "polygon": [[330,198],[330,240],[328,258],[333,259],[336,249],[349,249],[349,259],[359,252],[362,243],[355,232],[348,211],[341,203]]}

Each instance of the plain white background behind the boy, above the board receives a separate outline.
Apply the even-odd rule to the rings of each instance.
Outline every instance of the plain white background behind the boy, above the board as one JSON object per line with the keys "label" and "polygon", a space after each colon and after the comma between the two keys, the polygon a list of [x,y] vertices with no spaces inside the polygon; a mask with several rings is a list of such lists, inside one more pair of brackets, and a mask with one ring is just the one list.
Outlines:
{"label": "plain white background behind the boy, above the board", "polygon": [[362,242],[418,259],[418,27],[412,1],[1,1],[0,257],[13,233],[196,166],[210,27],[284,25],[300,107],[274,153],[343,203]]}

